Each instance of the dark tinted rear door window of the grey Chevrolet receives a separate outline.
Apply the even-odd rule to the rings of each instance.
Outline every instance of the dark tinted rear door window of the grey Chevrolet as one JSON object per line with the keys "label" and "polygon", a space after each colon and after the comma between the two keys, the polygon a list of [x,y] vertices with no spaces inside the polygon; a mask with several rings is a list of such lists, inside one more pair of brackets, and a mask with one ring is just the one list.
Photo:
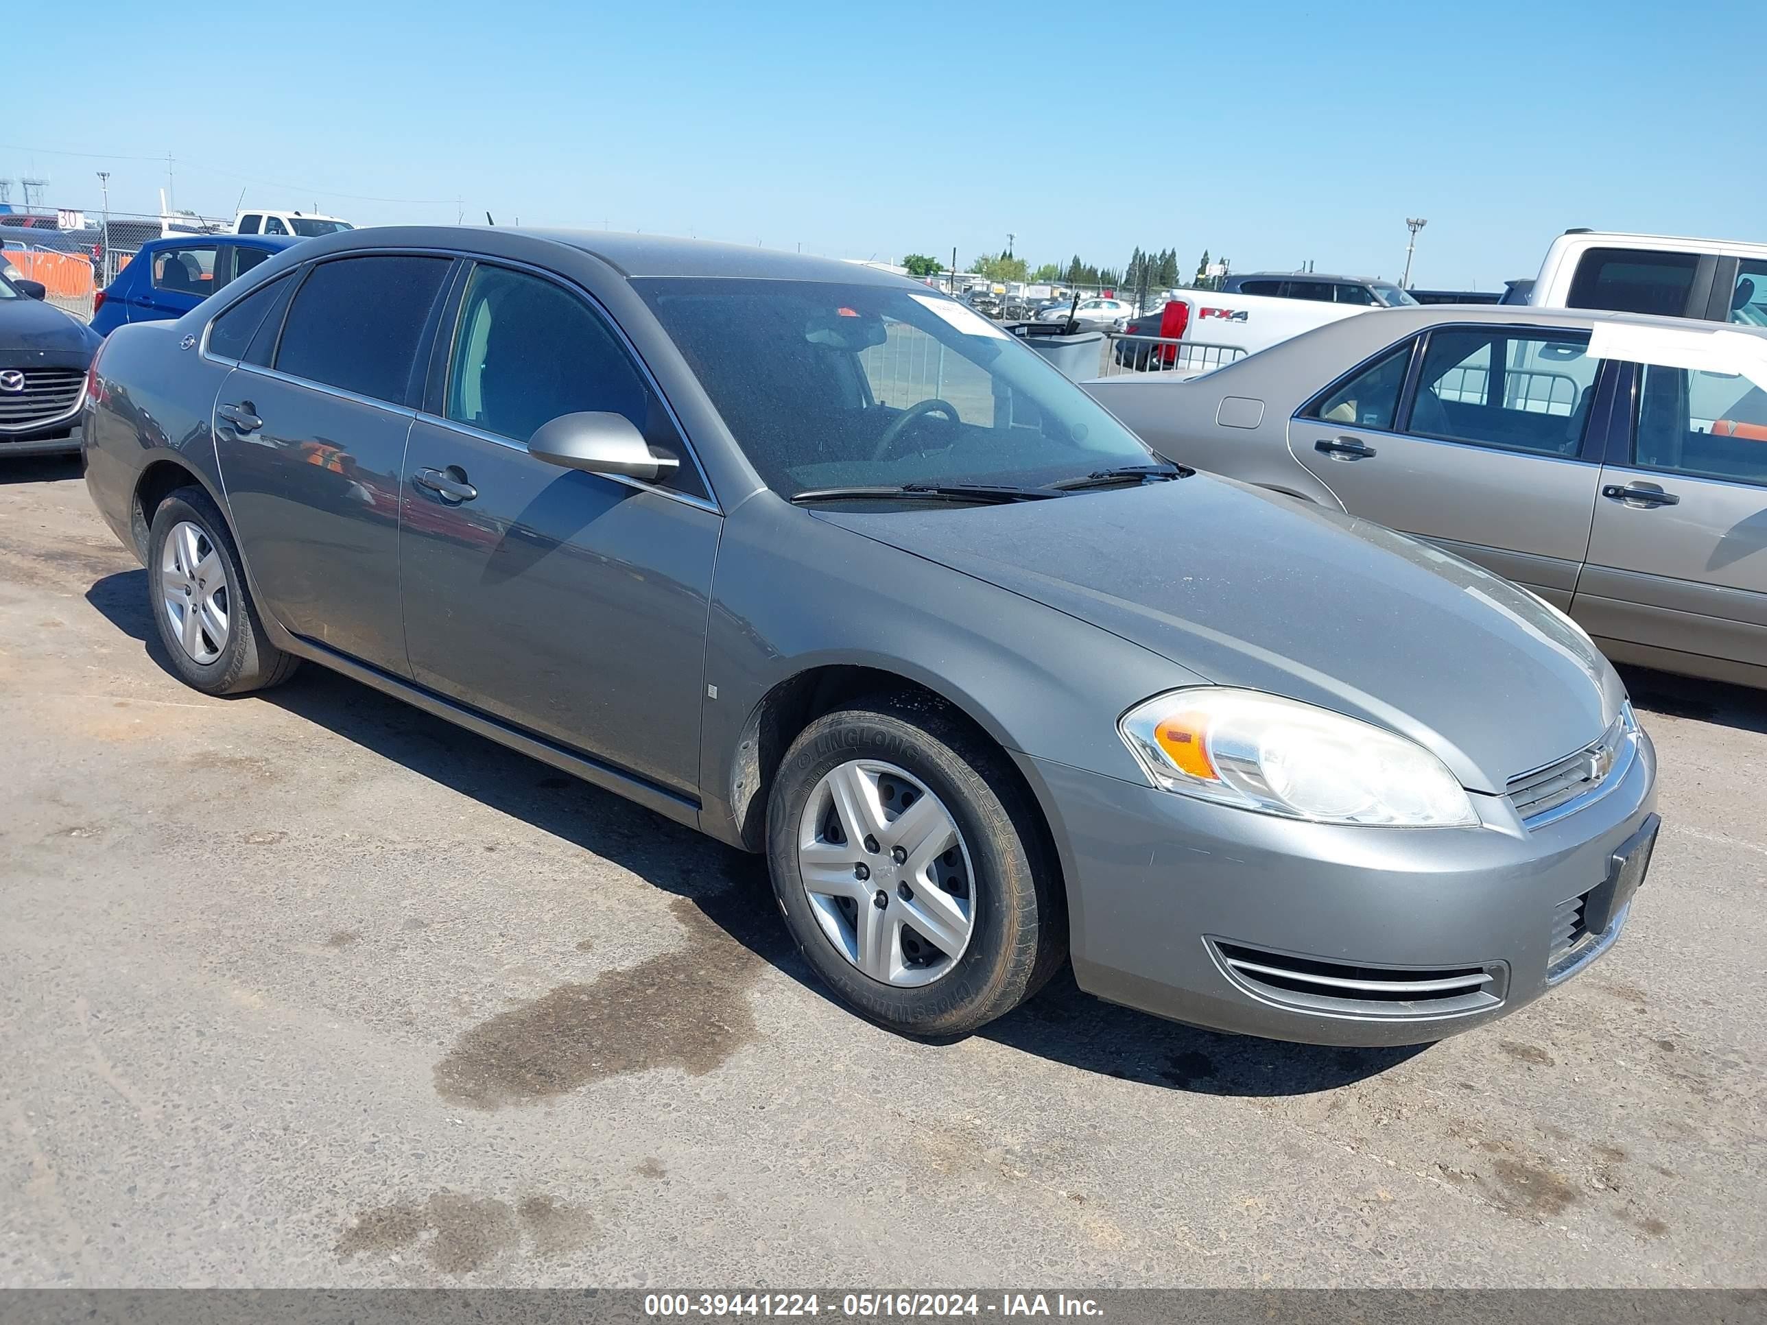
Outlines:
{"label": "dark tinted rear door window of the grey Chevrolet", "polygon": [[276,369],[403,405],[449,265],[405,254],[320,263],[288,309]]}

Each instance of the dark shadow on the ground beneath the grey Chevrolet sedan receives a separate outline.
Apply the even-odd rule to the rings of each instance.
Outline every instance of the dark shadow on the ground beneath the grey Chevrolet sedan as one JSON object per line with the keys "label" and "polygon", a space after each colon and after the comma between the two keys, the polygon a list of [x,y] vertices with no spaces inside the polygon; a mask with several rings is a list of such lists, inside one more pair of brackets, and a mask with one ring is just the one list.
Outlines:
{"label": "dark shadow on the ground beneath the grey Chevrolet sedan", "polygon": [[[141,641],[159,666],[168,664],[148,615],[145,571],[99,579],[87,601]],[[786,935],[762,857],[723,846],[325,668],[302,666],[286,685],[244,701],[274,703],[687,899],[755,958],[825,998],[829,1016],[852,1016],[829,998]],[[1092,998],[1069,970],[977,1035],[1085,1072],[1210,1095],[1331,1090],[1421,1051],[1331,1049],[1194,1030]]]}

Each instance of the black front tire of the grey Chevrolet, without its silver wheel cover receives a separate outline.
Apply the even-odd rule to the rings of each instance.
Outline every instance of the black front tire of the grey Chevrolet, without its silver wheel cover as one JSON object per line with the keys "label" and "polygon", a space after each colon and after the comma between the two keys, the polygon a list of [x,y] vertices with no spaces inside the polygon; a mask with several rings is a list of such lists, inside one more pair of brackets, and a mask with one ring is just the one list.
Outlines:
{"label": "black front tire of the grey Chevrolet, without its silver wheel cover", "polygon": [[[804,892],[797,825],[823,774],[857,756],[919,779],[951,811],[972,864],[974,929],[951,970],[919,988],[862,973],[822,931]],[[1067,959],[1067,906],[1041,818],[1005,756],[961,717],[873,696],[792,742],[767,800],[774,896],[804,959],[853,1011],[905,1035],[963,1035],[1011,1012]]]}

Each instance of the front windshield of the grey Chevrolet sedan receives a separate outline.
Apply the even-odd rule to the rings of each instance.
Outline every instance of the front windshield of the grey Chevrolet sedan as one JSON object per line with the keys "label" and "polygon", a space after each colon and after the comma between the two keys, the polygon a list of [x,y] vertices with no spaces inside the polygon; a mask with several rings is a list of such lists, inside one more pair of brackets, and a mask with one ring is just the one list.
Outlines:
{"label": "front windshield of the grey Chevrolet sedan", "polygon": [[954,300],[832,281],[633,284],[783,496],[1041,488],[1156,459],[1037,352]]}

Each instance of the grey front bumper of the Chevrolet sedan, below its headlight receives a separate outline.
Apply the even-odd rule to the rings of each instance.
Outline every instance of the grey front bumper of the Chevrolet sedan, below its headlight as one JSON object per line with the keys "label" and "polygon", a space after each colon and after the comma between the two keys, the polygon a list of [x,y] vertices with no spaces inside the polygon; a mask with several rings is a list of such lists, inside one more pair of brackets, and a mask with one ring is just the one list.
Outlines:
{"label": "grey front bumper of the Chevrolet sedan, below its headlight", "polygon": [[[1081,989],[1311,1044],[1444,1039],[1583,970],[1626,924],[1599,890],[1656,804],[1642,731],[1612,788],[1532,832],[1498,797],[1474,797],[1479,829],[1352,829],[1020,767],[1062,855]],[[1590,894],[1604,929],[1567,950]]]}

